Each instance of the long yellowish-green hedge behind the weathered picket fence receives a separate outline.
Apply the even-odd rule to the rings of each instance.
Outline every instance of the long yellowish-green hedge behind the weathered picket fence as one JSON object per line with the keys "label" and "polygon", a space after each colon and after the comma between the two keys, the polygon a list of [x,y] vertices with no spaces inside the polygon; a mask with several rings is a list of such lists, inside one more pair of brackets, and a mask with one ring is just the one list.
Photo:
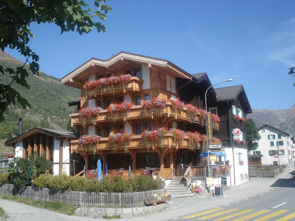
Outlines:
{"label": "long yellowish-green hedge behind the weathered picket fence", "polygon": [[124,179],[121,176],[108,176],[101,179],[85,179],[83,177],[68,177],[64,174],[53,176],[41,174],[35,178],[35,187],[63,189],[86,192],[141,192],[165,187],[165,183],[143,175]]}

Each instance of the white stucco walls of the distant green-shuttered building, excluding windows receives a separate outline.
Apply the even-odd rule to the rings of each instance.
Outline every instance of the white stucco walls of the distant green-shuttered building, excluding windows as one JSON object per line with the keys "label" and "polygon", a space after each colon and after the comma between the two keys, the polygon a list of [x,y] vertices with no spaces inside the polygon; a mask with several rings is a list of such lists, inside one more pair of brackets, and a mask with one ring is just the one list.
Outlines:
{"label": "white stucco walls of the distant green-shuttered building, excluding windows", "polygon": [[[256,141],[258,142],[258,148],[254,151],[260,151],[260,154],[263,155],[263,157],[261,157],[262,165],[273,165],[274,161],[278,162],[278,158],[270,156],[269,151],[278,150],[276,142],[283,141],[283,146],[279,146],[279,150],[284,150],[284,154],[279,155],[280,164],[285,164],[287,167],[294,167],[294,159],[291,154],[291,151],[294,149],[292,149],[291,136],[289,136],[289,134],[268,125],[260,128],[258,133],[260,134],[261,139]],[[281,134],[281,139],[278,139],[278,134]],[[268,139],[268,135],[275,135],[275,139]],[[271,146],[271,141],[273,141],[274,146]],[[250,151],[250,154],[253,155],[254,151]]]}

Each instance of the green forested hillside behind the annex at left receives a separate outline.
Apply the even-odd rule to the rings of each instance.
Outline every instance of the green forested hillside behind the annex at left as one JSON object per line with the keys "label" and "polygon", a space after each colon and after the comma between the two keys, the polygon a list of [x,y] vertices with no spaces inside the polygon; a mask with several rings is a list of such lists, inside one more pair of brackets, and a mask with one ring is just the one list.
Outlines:
{"label": "green forested hillside behind the annex at left", "polygon": [[[0,50],[0,65],[16,68],[21,61]],[[42,69],[42,67],[40,67]],[[1,83],[9,83],[9,75],[1,75]],[[0,123],[0,138],[7,139],[18,132],[18,120],[21,117],[23,129],[27,131],[35,126],[66,129],[69,114],[74,108],[68,107],[68,101],[80,96],[79,90],[62,85],[58,78],[39,72],[27,79],[30,89],[14,84],[14,88],[28,100],[31,108],[23,110],[20,105],[10,106]]]}

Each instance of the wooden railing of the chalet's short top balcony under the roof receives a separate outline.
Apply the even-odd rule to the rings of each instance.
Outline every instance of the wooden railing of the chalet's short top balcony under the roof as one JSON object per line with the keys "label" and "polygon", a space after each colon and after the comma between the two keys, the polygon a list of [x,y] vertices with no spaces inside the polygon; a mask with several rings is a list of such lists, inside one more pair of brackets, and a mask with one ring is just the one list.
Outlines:
{"label": "wooden railing of the chalet's short top balcony under the roof", "polygon": [[[114,94],[122,94],[122,92],[140,92],[142,90],[142,82],[143,80],[139,79],[138,77],[131,77],[130,82],[128,83],[128,85],[125,86],[125,88],[123,88],[121,85],[114,85]],[[107,85],[103,85],[101,90],[97,90],[96,94],[94,94],[94,97],[100,97],[101,95],[110,95]],[[85,89],[82,89],[82,96],[86,97]]]}

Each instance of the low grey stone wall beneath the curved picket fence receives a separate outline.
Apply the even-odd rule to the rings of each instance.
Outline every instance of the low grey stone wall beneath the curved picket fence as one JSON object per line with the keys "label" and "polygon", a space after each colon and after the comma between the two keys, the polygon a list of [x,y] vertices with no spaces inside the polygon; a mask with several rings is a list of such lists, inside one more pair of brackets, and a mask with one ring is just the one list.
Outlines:
{"label": "low grey stone wall beneath the curved picket fence", "polygon": [[143,206],[133,208],[103,208],[103,207],[79,207],[75,213],[79,216],[102,218],[103,215],[120,215],[121,218],[141,217],[163,212],[173,207],[173,202],[161,203],[156,206]]}

